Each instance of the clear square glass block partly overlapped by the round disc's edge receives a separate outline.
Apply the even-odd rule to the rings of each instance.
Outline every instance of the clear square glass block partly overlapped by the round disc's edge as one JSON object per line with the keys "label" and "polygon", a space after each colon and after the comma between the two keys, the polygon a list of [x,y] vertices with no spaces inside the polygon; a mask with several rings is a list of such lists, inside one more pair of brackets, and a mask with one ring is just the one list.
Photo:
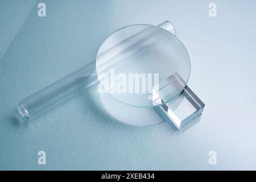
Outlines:
{"label": "clear square glass block partly overlapped by the round disc's edge", "polygon": [[[164,88],[168,90],[168,88],[174,88],[174,85],[176,85],[177,88],[180,88],[185,82],[178,73],[175,73],[159,84],[162,84]],[[170,87],[170,85],[172,86]],[[164,92],[163,96],[155,96],[156,98],[154,102],[164,103],[164,96]],[[181,94],[173,101],[156,106],[154,109],[164,121],[174,125],[180,130],[199,117],[203,113],[204,106],[204,103],[196,96],[196,94],[193,93],[188,86],[185,86],[183,92],[181,92]]]}

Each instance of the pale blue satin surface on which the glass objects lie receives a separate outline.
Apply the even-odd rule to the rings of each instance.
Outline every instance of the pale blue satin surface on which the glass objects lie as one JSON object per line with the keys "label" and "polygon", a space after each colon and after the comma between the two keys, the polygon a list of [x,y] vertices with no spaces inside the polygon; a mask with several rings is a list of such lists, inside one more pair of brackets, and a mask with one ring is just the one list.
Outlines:
{"label": "pale blue satin surface on which the glass objects lie", "polygon": [[[214,1],[214,18],[213,1],[40,2],[46,17],[36,1],[0,2],[0,169],[256,169],[255,1]],[[125,125],[95,88],[17,119],[20,100],[90,63],[113,31],[164,20],[189,52],[188,85],[206,105],[195,125]],[[217,165],[208,163],[212,150]]]}

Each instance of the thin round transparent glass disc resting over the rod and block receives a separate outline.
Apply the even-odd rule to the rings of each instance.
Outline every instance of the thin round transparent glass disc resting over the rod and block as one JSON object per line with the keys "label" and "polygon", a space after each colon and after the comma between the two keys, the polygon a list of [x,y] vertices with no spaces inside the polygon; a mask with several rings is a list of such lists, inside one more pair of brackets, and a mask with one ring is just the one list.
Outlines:
{"label": "thin round transparent glass disc resting over the rod and block", "polygon": [[174,99],[187,84],[190,70],[189,55],[180,40],[163,28],[146,24],[115,31],[96,57],[98,92],[139,107]]}

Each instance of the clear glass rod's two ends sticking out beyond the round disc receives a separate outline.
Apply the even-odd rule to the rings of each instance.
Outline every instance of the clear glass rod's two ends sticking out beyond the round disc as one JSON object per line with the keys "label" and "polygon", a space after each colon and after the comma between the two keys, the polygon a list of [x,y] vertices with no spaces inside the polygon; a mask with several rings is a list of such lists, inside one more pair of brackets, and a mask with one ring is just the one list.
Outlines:
{"label": "clear glass rod's two ends sticking out beyond the round disc", "polygon": [[[161,27],[176,35],[174,26],[168,21],[159,24]],[[96,63],[93,61],[78,71],[62,78],[59,81],[25,98],[18,104],[18,112],[24,119],[30,119],[43,113],[52,106],[59,104],[67,98],[79,93],[81,90],[98,82],[95,71]]]}

